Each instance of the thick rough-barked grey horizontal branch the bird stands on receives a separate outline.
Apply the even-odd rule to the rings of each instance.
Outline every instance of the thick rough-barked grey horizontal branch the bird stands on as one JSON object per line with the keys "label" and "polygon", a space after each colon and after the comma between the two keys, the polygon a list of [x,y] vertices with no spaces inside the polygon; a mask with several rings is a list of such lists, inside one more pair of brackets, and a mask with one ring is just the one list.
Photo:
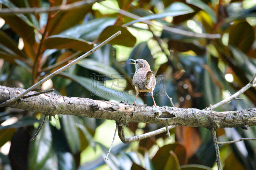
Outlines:
{"label": "thick rough-barked grey horizontal branch the bird stands on", "polygon": [[[21,88],[0,86],[0,102],[8,100],[21,92]],[[27,95],[36,92],[29,92]],[[126,103],[92,100],[77,97],[64,97],[55,93],[44,93],[27,99],[17,100],[8,107],[42,112],[45,115],[76,115],[99,119],[151,124],[182,125],[218,129],[226,127],[248,128],[256,125],[256,108],[239,111],[215,112],[195,108],[134,106]]]}

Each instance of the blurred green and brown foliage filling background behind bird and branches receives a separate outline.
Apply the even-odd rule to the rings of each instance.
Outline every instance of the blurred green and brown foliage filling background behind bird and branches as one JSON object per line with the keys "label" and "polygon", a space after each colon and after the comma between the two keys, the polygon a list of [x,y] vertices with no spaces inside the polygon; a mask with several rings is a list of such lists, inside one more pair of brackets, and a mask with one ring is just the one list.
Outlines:
{"label": "blurred green and brown foliage filling background behind bird and branches", "polygon": [[[0,0],[2,8],[52,7],[79,0]],[[78,9],[37,14],[0,14],[0,82],[28,88],[118,30],[122,34],[65,72],[45,82],[38,91],[54,88],[63,96],[120,102],[135,99],[128,59],[145,59],[155,72],[158,106],[204,109],[246,85],[256,72],[255,0],[105,0],[88,1]],[[145,19],[152,25],[120,15],[111,6]],[[188,37],[159,25],[196,33],[219,33],[220,39]],[[111,95],[112,94],[112,95]],[[255,107],[251,88],[216,111]],[[137,104],[153,106],[140,94]],[[118,137],[115,122],[59,115],[47,121],[33,142],[42,113],[0,108],[0,169],[4,170],[207,170],[217,169],[210,131],[177,127],[132,144]],[[161,128],[129,123],[126,136]],[[218,129],[219,141],[256,138],[255,127]],[[242,141],[220,146],[224,170],[256,169],[256,143]]]}

